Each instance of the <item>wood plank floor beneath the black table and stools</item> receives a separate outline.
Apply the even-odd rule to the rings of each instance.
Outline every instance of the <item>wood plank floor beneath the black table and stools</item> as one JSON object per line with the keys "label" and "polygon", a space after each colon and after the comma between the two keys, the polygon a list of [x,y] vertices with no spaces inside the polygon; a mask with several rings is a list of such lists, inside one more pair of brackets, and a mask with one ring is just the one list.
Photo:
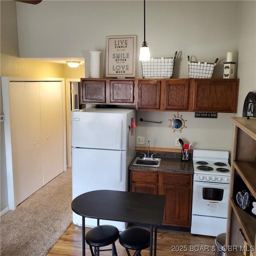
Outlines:
{"label": "wood plank floor beneath the black table and stools", "polygon": [[[86,230],[89,230],[86,228]],[[107,247],[106,247],[107,248]],[[127,256],[125,249],[116,241],[118,256]],[[215,237],[193,236],[188,232],[158,229],[158,256],[206,256],[215,255]],[[86,244],[86,255],[91,256]],[[101,252],[102,256],[111,256],[111,251]],[[142,256],[148,256],[149,250],[143,250]],[[82,256],[82,227],[71,224],[47,256]]]}

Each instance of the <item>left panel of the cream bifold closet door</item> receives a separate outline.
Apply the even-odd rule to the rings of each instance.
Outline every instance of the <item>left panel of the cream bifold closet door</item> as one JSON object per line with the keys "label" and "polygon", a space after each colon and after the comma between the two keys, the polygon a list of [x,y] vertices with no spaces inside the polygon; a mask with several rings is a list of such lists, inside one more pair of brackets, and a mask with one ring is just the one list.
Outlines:
{"label": "left panel of the cream bifold closet door", "polygon": [[12,167],[16,205],[43,186],[38,82],[10,83]]}

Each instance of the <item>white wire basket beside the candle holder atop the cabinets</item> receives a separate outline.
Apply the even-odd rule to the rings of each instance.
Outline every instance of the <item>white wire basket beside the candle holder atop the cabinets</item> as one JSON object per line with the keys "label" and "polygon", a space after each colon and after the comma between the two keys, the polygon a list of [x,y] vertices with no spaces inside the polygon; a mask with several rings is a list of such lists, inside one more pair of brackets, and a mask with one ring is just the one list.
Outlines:
{"label": "white wire basket beside the candle holder atop the cabinets", "polygon": [[189,78],[212,78],[212,74],[217,62],[218,58],[216,58],[214,63],[190,61],[188,56]]}

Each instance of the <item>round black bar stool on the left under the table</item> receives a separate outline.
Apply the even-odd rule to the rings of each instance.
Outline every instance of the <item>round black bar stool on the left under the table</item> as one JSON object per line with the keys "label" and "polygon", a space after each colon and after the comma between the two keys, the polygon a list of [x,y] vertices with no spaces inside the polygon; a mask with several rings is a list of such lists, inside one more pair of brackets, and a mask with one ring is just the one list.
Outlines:
{"label": "round black bar stool on the left under the table", "polygon": [[[119,231],[115,226],[101,225],[91,228],[85,235],[85,241],[90,247],[92,256],[99,256],[101,251],[111,251],[112,256],[117,256],[115,242],[118,240]],[[112,244],[112,249],[100,250],[100,247],[104,247]],[[94,247],[94,252],[92,247]]]}

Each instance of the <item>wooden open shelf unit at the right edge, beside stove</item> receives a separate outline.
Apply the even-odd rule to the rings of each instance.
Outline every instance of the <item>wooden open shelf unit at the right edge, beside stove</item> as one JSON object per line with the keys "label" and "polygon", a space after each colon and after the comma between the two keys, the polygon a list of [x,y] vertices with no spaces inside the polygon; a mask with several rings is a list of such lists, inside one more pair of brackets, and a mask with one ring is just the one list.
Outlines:
{"label": "wooden open shelf unit at the right edge, beside stove", "polygon": [[[231,162],[230,200],[228,211],[228,225],[226,232],[227,246],[244,246],[244,237],[249,246],[254,247],[252,254],[256,256],[256,218],[242,210],[235,203],[233,190],[235,176],[239,174],[248,190],[256,198],[256,119],[246,117],[232,117],[234,123],[234,148]],[[228,256],[242,256],[242,251],[228,251]]]}

